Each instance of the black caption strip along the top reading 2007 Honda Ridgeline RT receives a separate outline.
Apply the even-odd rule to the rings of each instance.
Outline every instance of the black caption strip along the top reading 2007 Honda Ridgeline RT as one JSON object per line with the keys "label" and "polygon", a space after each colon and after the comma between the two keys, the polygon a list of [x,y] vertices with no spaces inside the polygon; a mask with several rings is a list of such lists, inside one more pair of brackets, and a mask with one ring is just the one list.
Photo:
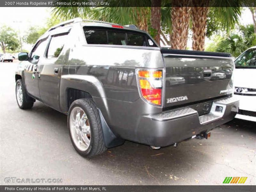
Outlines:
{"label": "black caption strip along the top reading 2007 Honda Ridgeline RT", "polygon": [[[255,7],[253,0],[163,0],[161,7]],[[0,7],[152,7],[152,0],[1,0]]]}

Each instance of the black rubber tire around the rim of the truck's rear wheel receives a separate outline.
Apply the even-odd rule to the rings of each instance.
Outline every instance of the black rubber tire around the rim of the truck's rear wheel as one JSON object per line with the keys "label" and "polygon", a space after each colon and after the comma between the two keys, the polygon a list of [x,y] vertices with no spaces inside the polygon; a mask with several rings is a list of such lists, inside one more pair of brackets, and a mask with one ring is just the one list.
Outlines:
{"label": "black rubber tire around the rim of the truck's rear wheel", "polygon": [[[85,151],[81,151],[76,147],[76,144],[71,135],[70,114],[75,107],[80,107],[84,110],[90,124],[90,144]],[[78,99],[71,104],[68,110],[68,130],[72,145],[81,156],[92,157],[99,155],[107,150],[104,143],[99,111],[92,99]]]}

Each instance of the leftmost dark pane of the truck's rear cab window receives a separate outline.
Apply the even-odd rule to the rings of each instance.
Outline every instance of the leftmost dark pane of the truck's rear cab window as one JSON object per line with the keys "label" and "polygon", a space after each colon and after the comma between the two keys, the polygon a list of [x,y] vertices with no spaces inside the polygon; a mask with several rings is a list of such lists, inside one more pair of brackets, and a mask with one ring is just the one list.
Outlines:
{"label": "leftmost dark pane of the truck's rear cab window", "polygon": [[106,30],[84,30],[86,42],[88,44],[107,44]]}

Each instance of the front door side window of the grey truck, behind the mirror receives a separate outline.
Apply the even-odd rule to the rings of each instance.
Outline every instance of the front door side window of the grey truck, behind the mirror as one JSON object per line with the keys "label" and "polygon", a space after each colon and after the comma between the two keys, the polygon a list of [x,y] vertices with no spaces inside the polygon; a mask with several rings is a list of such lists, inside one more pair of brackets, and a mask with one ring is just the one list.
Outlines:
{"label": "front door side window of the grey truck, behind the mirror", "polygon": [[47,46],[47,38],[40,40],[36,46],[33,48],[31,53],[31,60],[30,62],[36,64],[40,57],[44,55],[46,46]]}

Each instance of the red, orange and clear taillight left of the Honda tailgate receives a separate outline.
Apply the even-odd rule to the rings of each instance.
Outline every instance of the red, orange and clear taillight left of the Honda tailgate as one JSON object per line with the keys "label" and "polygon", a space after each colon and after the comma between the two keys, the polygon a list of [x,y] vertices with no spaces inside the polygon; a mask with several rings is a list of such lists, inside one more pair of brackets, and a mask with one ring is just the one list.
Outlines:
{"label": "red, orange and clear taillight left of the Honda tailgate", "polygon": [[161,106],[163,71],[161,69],[139,69],[137,74],[141,96],[150,103]]}

